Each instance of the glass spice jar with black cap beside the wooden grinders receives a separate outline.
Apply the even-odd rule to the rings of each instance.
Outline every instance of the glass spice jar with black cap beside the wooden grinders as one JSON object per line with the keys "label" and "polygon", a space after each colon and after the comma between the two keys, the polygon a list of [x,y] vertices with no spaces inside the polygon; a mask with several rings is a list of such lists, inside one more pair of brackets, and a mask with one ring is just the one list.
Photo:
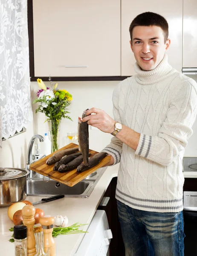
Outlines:
{"label": "glass spice jar with black cap beside the wooden grinders", "polygon": [[27,227],[14,226],[15,256],[27,256]]}

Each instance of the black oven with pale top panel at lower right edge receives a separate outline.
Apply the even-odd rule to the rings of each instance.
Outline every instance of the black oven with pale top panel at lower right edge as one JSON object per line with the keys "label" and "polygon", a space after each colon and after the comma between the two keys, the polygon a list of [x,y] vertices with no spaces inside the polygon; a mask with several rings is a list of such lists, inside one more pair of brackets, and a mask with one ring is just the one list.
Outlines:
{"label": "black oven with pale top panel at lower right edge", "polygon": [[197,192],[183,192],[184,255],[197,256]]}

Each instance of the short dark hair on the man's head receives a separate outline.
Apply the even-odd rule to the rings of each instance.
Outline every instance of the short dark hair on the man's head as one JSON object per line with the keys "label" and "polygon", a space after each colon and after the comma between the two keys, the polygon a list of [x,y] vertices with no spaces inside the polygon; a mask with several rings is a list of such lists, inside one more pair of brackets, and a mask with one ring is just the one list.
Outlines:
{"label": "short dark hair on the man's head", "polygon": [[154,12],[143,12],[137,15],[129,27],[130,40],[132,42],[132,33],[135,26],[159,26],[163,30],[164,43],[168,39],[168,22],[167,20]]}

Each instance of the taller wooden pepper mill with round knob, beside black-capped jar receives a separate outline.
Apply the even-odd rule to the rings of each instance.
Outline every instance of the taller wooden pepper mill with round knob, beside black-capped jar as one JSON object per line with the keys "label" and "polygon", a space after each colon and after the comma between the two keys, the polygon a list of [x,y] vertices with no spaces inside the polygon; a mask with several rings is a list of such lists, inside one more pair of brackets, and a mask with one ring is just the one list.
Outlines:
{"label": "taller wooden pepper mill with round knob, beside black-capped jar", "polygon": [[33,205],[26,205],[22,209],[23,225],[27,227],[27,255],[34,256],[36,254],[36,244],[34,236],[35,224],[35,208]]}

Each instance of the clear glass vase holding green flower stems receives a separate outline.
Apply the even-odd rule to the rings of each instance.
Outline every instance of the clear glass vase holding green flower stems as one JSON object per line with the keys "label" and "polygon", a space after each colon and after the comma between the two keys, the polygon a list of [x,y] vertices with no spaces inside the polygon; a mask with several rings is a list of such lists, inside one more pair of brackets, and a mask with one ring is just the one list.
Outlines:
{"label": "clear glass vase holding green flower stems", "polygon": [[51,153],[59,149],[60,141],[60,120],[51,119],[47,120],[49,128],[49,139],[51,140]]}

